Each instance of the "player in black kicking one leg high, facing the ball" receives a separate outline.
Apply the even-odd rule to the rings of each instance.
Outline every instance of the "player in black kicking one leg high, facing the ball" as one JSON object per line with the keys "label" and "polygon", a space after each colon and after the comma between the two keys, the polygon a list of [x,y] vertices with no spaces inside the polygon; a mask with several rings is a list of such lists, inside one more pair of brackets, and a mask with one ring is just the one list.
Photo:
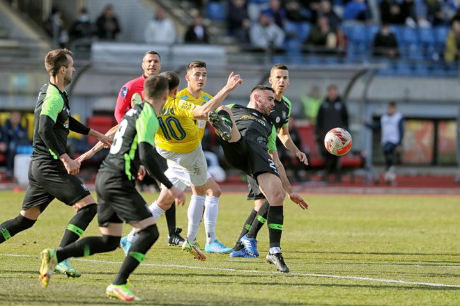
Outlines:
{"label": "player in black kicking one leg high, facing the ball", "polygon": [[[275,264],[277,270],[288,273],[289,268],[281,255],[280,244],[284,191],[301,209],[307,209],[308,204],[293,192],[279,161],[275,143],[276,130],[268,119],[274,106],[273,88],[259,85],[252,89],[247,107],[238,104],[231,104],[230,108],[222,106],[218,113],[211,111],[208,119],[221,135],[220,143],[229,164],[252,177],[268,200],[270,250],[266,261]],[[227,133],[231,133],[231,138],[224,140],[222,135]]]}

